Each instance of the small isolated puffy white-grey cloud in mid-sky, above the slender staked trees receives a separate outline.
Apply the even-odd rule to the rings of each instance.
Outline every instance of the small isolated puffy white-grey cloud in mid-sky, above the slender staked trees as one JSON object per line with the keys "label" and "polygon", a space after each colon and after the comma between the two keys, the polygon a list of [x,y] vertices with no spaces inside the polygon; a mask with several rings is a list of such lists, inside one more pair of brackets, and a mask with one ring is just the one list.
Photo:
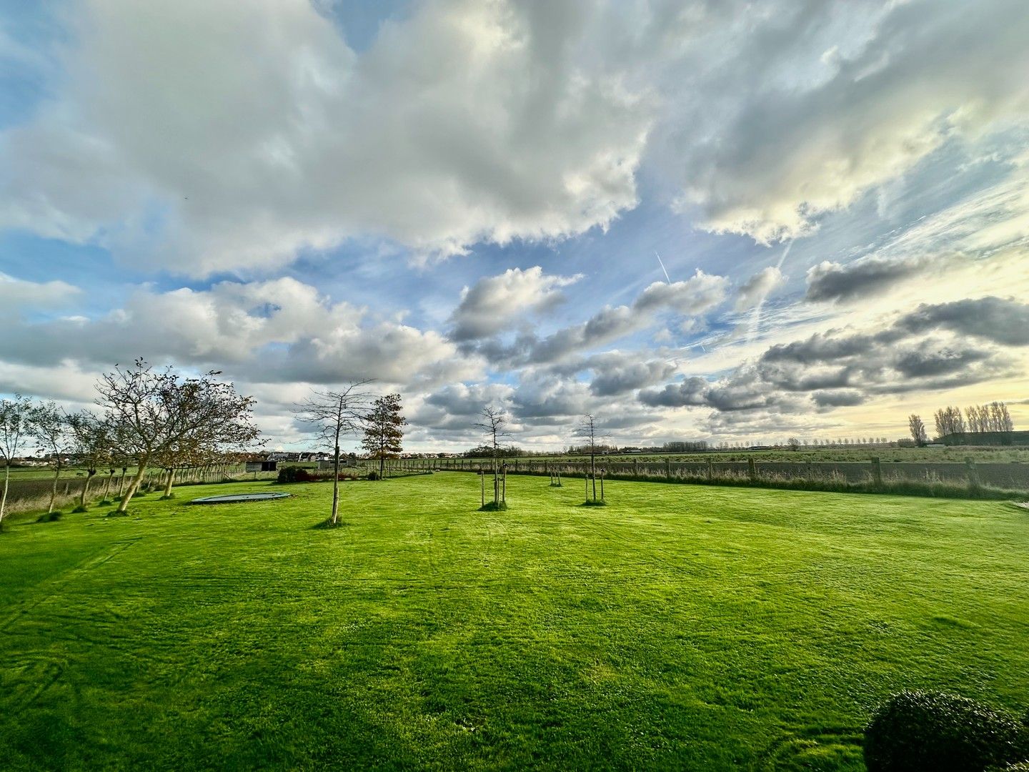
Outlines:
{"label": "small isolated puffy white-grey cloud in mid-sky, above the slender staked trees", "polygon": [[512,268],[499,276],[480,279],[461,292],[461,303],[451,315],[452,341],[472,341],[503,331],[525,311],[541,312],[562,302],[560,287],[581,279],[544,276],[539,266],[525,271]]}

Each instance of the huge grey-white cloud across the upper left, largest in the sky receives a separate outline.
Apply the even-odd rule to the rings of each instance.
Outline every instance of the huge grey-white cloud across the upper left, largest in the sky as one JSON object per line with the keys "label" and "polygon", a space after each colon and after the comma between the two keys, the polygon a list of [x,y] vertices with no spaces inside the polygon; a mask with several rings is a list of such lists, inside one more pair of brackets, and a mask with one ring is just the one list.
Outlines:
{"label": "huge grey-white cloud across the upper left, largest in the sky", "polygon": [[0,136],[0,225],[193,275],[605,227],[652,111],[594,14],[428,0],[357,54],[308,0],[86,0],[56,98]]}

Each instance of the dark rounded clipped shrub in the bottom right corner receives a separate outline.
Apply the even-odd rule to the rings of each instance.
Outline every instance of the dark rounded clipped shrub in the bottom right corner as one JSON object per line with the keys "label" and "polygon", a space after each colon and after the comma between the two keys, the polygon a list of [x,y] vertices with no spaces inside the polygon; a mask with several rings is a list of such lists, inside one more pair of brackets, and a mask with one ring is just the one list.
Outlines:
{"label": "dark rounded clipped shrub in the bottom right corner", "polygon": [[864,731],[868,772],[983,772],[1029,758],[1029,730],[1012,715],[964,697],[900,692]]}

